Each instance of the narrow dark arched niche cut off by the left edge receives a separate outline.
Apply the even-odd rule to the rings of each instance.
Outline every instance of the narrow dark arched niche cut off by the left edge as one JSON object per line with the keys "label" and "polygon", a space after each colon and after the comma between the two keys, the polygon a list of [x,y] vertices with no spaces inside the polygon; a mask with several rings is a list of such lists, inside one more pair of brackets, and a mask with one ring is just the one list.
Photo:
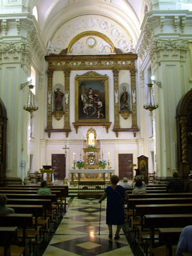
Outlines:
{"label": "narrow dark arched niche cut off by the left edge", "polygon": [[6,173],[6,108],[0,98],[0,182],[4,185]]}

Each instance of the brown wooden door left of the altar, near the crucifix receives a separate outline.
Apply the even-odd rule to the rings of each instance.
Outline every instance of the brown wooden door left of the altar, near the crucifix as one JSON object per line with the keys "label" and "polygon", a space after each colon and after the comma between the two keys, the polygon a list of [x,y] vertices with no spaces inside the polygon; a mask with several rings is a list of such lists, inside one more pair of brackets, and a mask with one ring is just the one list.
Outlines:
{"label": "brown wooden door left of the altar, near the crucifix", "polygon": [[65,154],[52,154],[52,169],[54,169],[54,180],[65,179]]}

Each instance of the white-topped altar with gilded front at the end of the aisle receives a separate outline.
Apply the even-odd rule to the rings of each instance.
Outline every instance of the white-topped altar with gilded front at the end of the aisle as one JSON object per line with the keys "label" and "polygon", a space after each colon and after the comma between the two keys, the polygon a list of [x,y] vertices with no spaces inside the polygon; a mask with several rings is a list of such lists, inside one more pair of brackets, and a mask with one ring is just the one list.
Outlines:
{"label": "white-topped altar with gilded front at the end of the aisle", "polygon": [[[93,178],[92,180],[106,180],[106,173],[108,173],[107,179],[111,179],[111,175],[115,174],[115,169],[75,169],[75,170],[68,170],[68,177],[70,179],[70,183],[74,183],[75,180],[76,182],[80,180],[90,180],[88,177],[88,174],[91,173],[97,173],[97,177]],[[76,177],[77,174],[77,177]],[[84,175],[84,177],[82,177]]]}

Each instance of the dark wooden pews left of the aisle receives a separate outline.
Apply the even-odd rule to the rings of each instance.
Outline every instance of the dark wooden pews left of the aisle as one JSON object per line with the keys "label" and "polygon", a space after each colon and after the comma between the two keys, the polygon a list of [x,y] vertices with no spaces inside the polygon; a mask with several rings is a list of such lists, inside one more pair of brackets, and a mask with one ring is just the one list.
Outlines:
{"label": "dark wooden pews left of the aisle", "polygon": [[[0,214],[0,256],[28,256],[47,238],[58,217],[66,211],[68,186],[50,186],[51,195],[37,195],[36,186],[0,188],[7,207],[15,214]],[[4,234],[1,236],[1,234]]]}

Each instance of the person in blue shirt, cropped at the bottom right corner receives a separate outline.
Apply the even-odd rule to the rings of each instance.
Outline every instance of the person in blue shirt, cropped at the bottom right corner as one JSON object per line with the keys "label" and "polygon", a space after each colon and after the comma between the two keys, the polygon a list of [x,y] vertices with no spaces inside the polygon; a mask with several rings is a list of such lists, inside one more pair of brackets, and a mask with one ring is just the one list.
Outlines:
{"label": "person in blue shirt, cropped at the bottom right corner", "polygon": [[184,252],[192,252],[192,243],[191,243],[191,236],[192,236],[192,226],[187,226],[182,229],[180,233],[179,242],[177,244],[176,255],[182,256]]}

